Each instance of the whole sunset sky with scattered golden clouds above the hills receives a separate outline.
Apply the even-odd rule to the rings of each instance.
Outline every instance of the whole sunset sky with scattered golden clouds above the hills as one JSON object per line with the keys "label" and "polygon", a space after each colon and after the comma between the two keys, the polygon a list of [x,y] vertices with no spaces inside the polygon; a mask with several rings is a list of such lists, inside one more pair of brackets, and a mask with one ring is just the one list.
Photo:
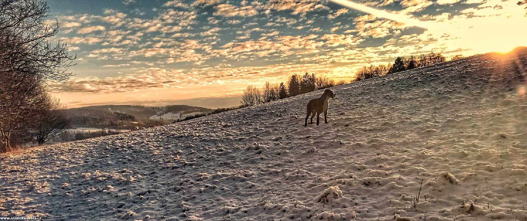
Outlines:
{"label": "whole sunset sky with scattered golden clouds above the hills", "polygon": [[291,74],[354,79],[364,65],[430,52],[527,46],[509,0],[48,0],[77,63],[54,85],[67,107],[239,105],[247,85]]}

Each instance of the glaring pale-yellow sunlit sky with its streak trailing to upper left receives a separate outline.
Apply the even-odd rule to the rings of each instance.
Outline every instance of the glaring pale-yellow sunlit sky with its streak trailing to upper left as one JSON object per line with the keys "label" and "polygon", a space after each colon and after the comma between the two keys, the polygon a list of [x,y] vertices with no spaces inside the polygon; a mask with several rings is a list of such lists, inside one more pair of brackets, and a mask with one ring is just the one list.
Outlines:
{"label": "glaring pale-yellow sunlit sky with its streak trailing to upper left", "polygon": [[[527,17],[522,7],[510,3],[501,9],[502,14],[490,16],[455,16],[443,21],[419,21],[403,14],[379,10],[348,0],[329,0],[339,5],[356,9],[377,17],[405,23],[408,26],[426,28],[448,50],[468,50],[470,53],[508,53],[515,47],[527,46]],[[494,1],[494,2],[493,2]],[[486,4],[494,4],[490,0]],[[478,13],[486,13],[487,7],[480,7]],[[493,9],[492,9],[493,10]],[[480,12],[481,11],[481,12]],[[444,37],[444,36],[447,37]],[[443,38],[443,39],[442,39]]]}

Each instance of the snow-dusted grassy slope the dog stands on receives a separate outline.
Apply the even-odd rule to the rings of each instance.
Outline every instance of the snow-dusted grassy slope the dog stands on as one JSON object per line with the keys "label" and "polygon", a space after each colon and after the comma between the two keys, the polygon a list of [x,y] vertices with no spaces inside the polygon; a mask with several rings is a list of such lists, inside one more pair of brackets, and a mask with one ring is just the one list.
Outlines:
{"label": "snow-dusted grassy slope the dog stands on", "polygon": [[319,126],[321,91],[3,154],[0,216],[527,220],[526,73],[523,48],[332,88]]}

